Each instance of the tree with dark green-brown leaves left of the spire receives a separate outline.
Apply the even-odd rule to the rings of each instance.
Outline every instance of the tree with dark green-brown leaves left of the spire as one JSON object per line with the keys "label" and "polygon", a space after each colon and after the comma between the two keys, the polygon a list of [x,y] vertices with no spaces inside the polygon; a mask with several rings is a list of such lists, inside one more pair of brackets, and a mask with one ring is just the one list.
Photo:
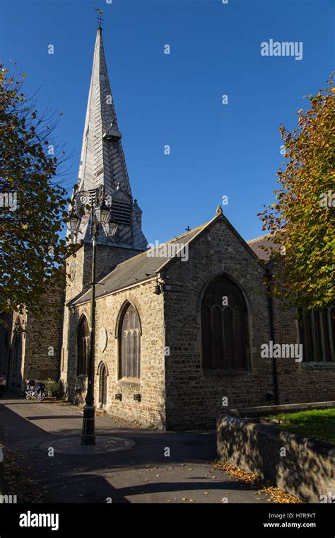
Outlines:
{"label": "tree with dark green-brown leaves left of the spire", "polygon": [[66,190],[55,179],[64,151],[50,142],[54,117],[38,115],[17,78],[0,65],[0,311],[38,318],[67,250]]}

